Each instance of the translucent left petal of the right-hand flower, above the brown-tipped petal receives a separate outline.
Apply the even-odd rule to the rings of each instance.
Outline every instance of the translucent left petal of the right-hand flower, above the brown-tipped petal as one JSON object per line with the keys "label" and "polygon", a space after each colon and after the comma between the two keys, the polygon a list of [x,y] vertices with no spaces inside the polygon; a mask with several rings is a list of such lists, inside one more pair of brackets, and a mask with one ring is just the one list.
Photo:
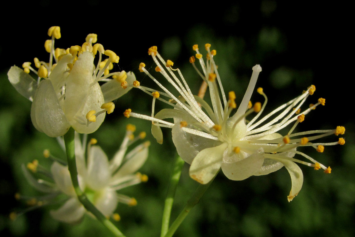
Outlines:
{"label": "translucent left petal of the right-hand flower, above the brown-tipped petal", "polygon": [[177,123],[171,130],[173,135],[173,142],[178,151],[179,156],[185,162],[191,164],[193,158],[195,158],[198,152],[222,144],[220,141],[203,138],[201,136],[186,133],[180,128],[180,124]]}

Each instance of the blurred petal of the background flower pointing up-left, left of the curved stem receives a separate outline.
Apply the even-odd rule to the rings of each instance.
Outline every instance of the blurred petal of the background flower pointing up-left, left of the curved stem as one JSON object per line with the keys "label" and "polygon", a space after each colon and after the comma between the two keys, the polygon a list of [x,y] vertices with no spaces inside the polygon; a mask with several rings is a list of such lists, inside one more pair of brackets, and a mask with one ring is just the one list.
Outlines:
{"label": "blurred petal of the background flower pointing up-left, left of the curved stem", "polygon": [[69,196],[76,196],[67,166],[55,161],[50,167],[50,172],[53,174],[54,182],[60,191]]}

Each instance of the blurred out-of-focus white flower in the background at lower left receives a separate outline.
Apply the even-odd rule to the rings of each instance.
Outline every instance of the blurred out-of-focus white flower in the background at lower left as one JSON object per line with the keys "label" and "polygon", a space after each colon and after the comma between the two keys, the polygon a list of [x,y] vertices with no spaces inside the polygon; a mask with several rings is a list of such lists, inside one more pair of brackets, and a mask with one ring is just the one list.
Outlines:
{"label": "blurred out-of-focus white flower in the background at lower left", "polygon": [[[117,214],[114,215],[114,211],[118,203],[130,206],[137,204],[136,199],[118,194],[118,190],[148,180],[146,175],[137,170],[147,160],[149,142],[136,146],[126,154],[128,146],[145,137],[145,133],[142,132],[134,138],[134,130],[135,126],[127,125],[126,136],[121,147],[110,161],[99,146],[93,145],[97,142],[95,139],[88,142],[86,147],[81,144],[79,134],[75,134],[75,154],[80,188],[95,207],[107,217],[116,218]],[[85,154],[86,151],[87,154]],[[48,151],[45,156],[49,156]],[[27,168],[34,173],[44,173],[53,181],[35,179]],[[37,160],[28,163],[27,168],[24,165],[22,167],[28,182],[38,191],[48,193],[48,195],[33,199],[32,205],[50,204],[52,202],[49,200],[64,193],[67,196],[65,203],[58,210],[50,211],[54,219],[73,223],[80,221],[85,213],[89,213],[77,199],[68,167],[63,162],[54,161],[50,172],[41,167]]]}

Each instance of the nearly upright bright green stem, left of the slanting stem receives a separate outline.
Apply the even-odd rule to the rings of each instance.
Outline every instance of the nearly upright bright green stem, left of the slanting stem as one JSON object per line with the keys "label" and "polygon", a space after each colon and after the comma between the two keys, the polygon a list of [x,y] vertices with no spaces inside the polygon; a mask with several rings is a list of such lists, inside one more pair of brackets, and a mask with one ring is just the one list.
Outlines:
{"label": "nearly upright bright green stem, left of the slanting stem", "polygon": [[168,188],[168,194],[166,195],[166,199],[165,199],[163,220],[162,220],[162,232],[160,234],[160,237],[164,237],[169,229],[171,208],[173,206],[176,187],[178,186],[180,175],[181,175],[181,169],[184,166],[184,163],[185,161],[182,160],[180,156],[177,155],[174,162],[174,169],[173,172],[171,173],[172,175],[171,175],[170,184]]}

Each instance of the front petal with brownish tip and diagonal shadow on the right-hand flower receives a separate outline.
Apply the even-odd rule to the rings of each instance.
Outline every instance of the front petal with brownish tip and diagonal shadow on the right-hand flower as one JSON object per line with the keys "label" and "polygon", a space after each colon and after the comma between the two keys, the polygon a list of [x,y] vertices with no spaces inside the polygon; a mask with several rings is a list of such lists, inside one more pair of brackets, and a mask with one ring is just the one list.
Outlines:
{"label": "front petal with brownish tip and diagonal shadow on the right-hand flower", "polygon": [[211,181],[221,167],[223,152],[227,146],[228,144],[223,143],[200,151],[191,163],[190,177],[202,184]]}

